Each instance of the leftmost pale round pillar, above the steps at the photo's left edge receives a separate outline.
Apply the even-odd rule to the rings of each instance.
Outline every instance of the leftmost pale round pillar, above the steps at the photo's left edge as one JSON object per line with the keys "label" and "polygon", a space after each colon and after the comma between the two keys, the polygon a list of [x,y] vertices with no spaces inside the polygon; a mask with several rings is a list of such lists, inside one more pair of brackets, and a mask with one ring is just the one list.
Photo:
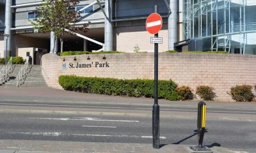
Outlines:
{"label": "leftmost pale round pillar, above the steps at the photo's left edge", "polygon": [[10,37],[8,38],[8,44],[7,44],[7,50],[6,50],[6,40],[4,40],[4,56],[7,52],[7,56],[10,56],[10,51],[11,51],[11,45],[12,45],[12,33],[11,33],[11,27],[12,27],[12,0],[6,0],[5,3],[5,29],[4,33],[5,34],[10,34]]}

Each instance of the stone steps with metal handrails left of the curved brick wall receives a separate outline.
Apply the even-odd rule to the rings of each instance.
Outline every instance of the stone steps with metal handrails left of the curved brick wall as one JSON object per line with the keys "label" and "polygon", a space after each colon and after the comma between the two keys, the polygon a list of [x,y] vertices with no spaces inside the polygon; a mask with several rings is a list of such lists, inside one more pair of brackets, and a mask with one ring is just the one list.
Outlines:
{"label": "stone steps with metal handrails left of the curved brick wall", "polygon": [[[23,65],[13,65],[13,71],[10,73],[10,80],[5,82],[3,85],[0,86],[17,86],[17,75],[20,71],[20,68]],[[0,66],[1,67],[1,66]],[[29,66],[29,71],[26,75],[24,84],[20,86],[31,86],[31,87],[47,87],[45,84],[44,78],[41,74],[41,67],[37,65]]]}

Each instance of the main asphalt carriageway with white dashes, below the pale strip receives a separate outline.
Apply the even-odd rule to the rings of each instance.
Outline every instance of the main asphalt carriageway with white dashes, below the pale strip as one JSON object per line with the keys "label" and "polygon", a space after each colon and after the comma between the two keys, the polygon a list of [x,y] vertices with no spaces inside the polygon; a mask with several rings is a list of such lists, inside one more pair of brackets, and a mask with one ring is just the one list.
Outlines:
{"label": "main asphalt carriageway with white dashes, below the pale strip", "polygon": [[[73,142],[152,143],[150,117],[0,113],[0,138]],[[162,144],[197,145],[196,120],[160,120]],[[255,120],[207,120],[204,145],[255,153]]]}

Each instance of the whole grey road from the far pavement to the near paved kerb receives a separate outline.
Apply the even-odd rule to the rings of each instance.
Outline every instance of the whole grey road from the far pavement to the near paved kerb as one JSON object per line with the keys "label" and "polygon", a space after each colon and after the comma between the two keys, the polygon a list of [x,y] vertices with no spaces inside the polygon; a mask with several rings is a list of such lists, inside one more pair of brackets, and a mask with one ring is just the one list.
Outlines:
{"label": "whole grey road from the far pavement to the near paved kerb", "polygon": [[[256,111],[252,106],[210,103],[204,145],[255,153]],[[152,106],[149,105],[1,101],[0,108],[4,109],[0,113],[1,139],[152,143]],[[26,109],[37,113],[19,112]],[[41,113],[40,110],[60,112]],[[86,113],[77,114],[74,110]],[[95,115],[94,112],[105,113]],[[163,105],[161,115],[162,144],[197,145],[196,105]]]}

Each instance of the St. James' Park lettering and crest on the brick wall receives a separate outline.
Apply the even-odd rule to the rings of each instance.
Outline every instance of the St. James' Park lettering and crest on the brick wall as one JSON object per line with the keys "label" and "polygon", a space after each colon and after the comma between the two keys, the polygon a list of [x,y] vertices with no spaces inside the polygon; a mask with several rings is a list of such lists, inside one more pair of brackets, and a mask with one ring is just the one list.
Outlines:
{"label": "St. James' Park lettering and crest on the brick wall", "polygon": [[109,62],[63,62],[61,69],[79,69],[79,68],[109,68]]}

